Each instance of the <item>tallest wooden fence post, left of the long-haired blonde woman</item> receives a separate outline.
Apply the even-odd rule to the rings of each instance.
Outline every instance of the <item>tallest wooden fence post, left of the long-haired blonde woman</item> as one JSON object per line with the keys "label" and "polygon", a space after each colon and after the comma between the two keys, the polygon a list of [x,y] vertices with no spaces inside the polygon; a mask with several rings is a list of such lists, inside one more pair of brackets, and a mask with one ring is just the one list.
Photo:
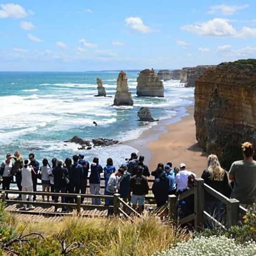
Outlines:
{"label": "tallest wooden fence post, left of the long-haired blonde woman", "polygon": [[200,231],[204,227],[204,180],[202,178],[195,179],[195,201],[194,201],[194,212],[195,212],[195,230]]}

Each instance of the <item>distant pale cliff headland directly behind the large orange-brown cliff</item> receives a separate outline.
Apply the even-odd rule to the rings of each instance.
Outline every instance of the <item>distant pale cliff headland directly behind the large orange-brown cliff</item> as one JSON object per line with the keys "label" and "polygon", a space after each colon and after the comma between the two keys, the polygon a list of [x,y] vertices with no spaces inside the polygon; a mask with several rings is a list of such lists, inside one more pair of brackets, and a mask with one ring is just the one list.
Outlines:
{"label": "distant pale cliff headland directly behind the large orange-brown cliff", "polygon": [[185,87],[195,87],[196,79],[198,79],[209,67],[214,66],[183,67],[180,77],[181,83],[185,83]]}

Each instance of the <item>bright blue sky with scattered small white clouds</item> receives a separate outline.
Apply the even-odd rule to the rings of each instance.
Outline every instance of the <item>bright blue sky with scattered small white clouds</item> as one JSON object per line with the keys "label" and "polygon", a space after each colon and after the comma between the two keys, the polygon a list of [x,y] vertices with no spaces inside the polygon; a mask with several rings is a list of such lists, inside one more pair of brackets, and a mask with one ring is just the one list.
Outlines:
{"label": "bright blue sky with scattered small white clouds", "polygon": [[256,58],[255,0],[0,0],[0,71],[175,69]]}

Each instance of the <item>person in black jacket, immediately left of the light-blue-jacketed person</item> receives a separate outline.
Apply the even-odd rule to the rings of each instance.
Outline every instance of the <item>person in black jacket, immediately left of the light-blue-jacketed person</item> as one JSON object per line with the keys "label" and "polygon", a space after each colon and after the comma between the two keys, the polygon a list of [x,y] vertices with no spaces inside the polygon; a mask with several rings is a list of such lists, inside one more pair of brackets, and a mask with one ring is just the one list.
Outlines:
{"label": "person in black jacket, immediately left of the light-blue-jacketed person", "polygon": [[[160,170],[160,169],[159,169]],[[161,168],[162,170],[162,168]],[[155,201],[157,207],[161,207],[164,205],[168,200],[168,189],[169,189],[169,179],[166,176],[165,172],[163,172],[159,175],[158,178],[155,179],[153,186],[152,186],[152,192],[155,196]]]}

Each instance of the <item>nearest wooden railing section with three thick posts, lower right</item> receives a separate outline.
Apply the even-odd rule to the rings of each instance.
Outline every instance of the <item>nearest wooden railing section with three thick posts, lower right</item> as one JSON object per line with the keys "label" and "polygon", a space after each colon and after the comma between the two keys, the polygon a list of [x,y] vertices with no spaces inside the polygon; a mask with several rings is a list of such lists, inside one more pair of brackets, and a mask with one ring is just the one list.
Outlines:
{"label": "nearest wooden railing section with three thick posts, lower right", "polygon": [[[204,193],[205,191],[210,195],[214,196],[217,200],[223,202],[226,206],[226,223],[223,224],[215,219],[215,216],[211,216],[207,211],[205,211],[205,201]],[[177,205],[178,201],[181,201],[187,198],[190,195],[194,195],[194,213],[178,219],[177,214]],[[211,222],[214,222],[217,226],[220,226],[222,229],[229,229],[231,226],[236,225],[239,220],[242,219],[247,213],[247,210],[240,206],[238,200],[228,198],[222,195],[220,192],[211,188],[209,185],[204,184],[204,180],[201,178],[195,179],[194,188],[183,192],[181,195],[169,195],[168,196],[168,219],[179,224],[185,224],[187,222],[194,221],[194,228],[197,231],[200,231],[204,227],[204,219],[208,219]]]}

